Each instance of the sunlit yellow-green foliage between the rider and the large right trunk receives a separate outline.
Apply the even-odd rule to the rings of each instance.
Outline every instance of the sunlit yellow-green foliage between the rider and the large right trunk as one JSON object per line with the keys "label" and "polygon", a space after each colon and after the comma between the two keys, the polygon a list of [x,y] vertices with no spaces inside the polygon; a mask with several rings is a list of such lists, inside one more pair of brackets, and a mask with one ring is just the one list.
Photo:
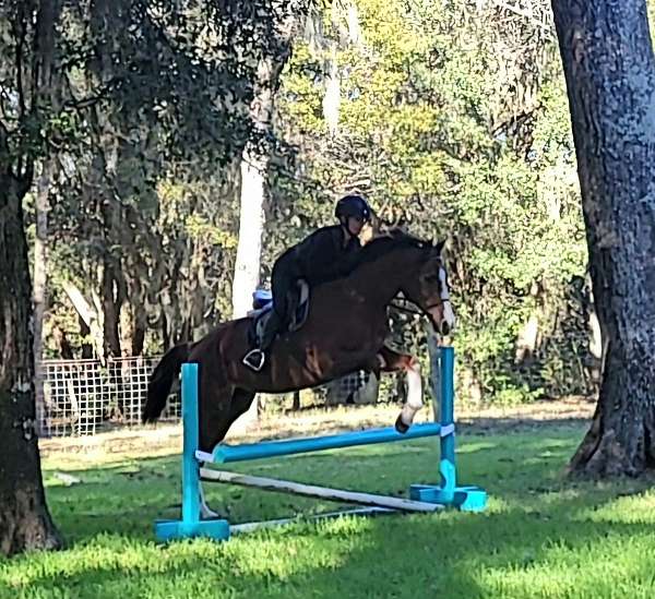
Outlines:
{"label": "sunlit yellow-green foliage between the rider and the large right trunk", "polygon": [[[574,368],[586,351],[558,321],[571,280],[585,274],[586,244],[552,29],[463,1],[357,7],[359,45],[340,41],[343,23],[326,19],[323,43],[300,45],[285,74],[279,128],[298,141],[299,166],[277,188],[271,241],[330,220],[331,202],[359,189],[384,220],[449,240],[455,345],[487,398],[574,391],[548,364]],[[547,2],[535,10],[550,19]],[[335,135],[321,115],[333,56]],[[526,63],[534,68],[521,71]],[[290,205],[296,220],[283,216]],[[533,314],[540,335],[525,364],[515,345]],[[563,337],[559,356],[545,351],[551,337]]]}

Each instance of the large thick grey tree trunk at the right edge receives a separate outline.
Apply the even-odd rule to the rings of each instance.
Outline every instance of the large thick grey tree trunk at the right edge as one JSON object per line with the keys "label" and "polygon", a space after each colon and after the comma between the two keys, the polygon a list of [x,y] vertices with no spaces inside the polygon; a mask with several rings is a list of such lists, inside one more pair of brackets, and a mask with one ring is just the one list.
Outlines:
{"label": "large thick grey tree trunk at the right edge", "polygon": [[552,0],[606,348],[574,472],[655,464],[655,60],[643,0]]}

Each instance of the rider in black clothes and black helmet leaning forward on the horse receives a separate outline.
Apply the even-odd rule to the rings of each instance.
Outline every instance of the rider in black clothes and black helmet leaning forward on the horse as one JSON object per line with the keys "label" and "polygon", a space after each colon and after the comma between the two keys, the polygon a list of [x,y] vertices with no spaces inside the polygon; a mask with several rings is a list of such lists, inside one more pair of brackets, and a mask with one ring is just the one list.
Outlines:
{"label": "rider in black clothes and black helmet leaning forward on the horse", "polygon": [[358,235],[371,219],[371,208],[364,197],[352,194],[342,197],[334,209],[338,225],[322,227],[303,241],[286,250],[273,265],[271,287],[273,311],[262,335],[260,347],[250,350],[243,363],[260,371],[266,350],[277,333],[287,330],[290,314],[288,295],[298,280],[311,287],[346,276],[357,264],[361,250]]}

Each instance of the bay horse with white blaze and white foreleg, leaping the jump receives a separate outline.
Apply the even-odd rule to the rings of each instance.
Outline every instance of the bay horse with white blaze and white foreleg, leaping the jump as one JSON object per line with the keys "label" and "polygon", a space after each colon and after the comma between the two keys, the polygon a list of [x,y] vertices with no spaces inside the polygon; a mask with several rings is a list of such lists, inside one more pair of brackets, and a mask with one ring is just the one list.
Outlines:
{"label": "bay horse with white blaze and white foreleg, leaping the jump", "polygon": [[317,386],[356,370],[405,371],[407,399],[395,422],[406,432],[422,406],[418,361],[384,345],[390,333],[386,308],[401,291],[429,316],[436,334],[454,326],[441,250],[405,232],[394,231],[362,248],[357,267],[345,278],[310,290],[309,313],[294,333],[271,347],[264,369],[241,363],[250,349],[249,318],[218,325],[195,343],[169,349],[153,371],[143,421],[162,414],[183,362],[199,364],[200,448],[211,453],[231,423],[248,410],[254,395]]}

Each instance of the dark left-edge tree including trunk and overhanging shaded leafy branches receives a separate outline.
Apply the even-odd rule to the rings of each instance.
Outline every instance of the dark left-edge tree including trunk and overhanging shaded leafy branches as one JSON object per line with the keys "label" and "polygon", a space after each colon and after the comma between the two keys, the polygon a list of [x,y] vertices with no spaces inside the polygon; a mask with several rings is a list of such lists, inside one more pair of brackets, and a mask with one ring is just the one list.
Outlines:
{"label": "dark left-edge tree including trunk and overhanging shaded leafy branches", "polygon": [[[253,139],[259,147],[248,112],[257,81],[251,64],[272,48],[267,27],[301,5],[189,0],[163,11],[156,0],[0,3],[0,552],[61,542],[45,502],[35,430],[23,200],[38,163],[57,148],[71,170],[75,158],[100,164],[92,171],[103,182],[99,203],[83,201],[80,213],[93,214],[88,220],[99,215],[100,235],[108,223],[138,227],[122,220],[120,208],[124,203],[129,213],[133,196],[154,195],[157,167],[168,175],[180,164],[224,166]],[[249,44],[235,50],[235,36]],[[98,111],[107,115],[99,136],[111,131],[120,144],[85,152]],[[115,256],[102,251],[102,257],[106,265]],[[104,299],[118,311],[124,290],[116,289],[121,281],[110,266]],[[117,327],[116,320],[109,324]],[[114,332],[109,340],[120,351]]]}

